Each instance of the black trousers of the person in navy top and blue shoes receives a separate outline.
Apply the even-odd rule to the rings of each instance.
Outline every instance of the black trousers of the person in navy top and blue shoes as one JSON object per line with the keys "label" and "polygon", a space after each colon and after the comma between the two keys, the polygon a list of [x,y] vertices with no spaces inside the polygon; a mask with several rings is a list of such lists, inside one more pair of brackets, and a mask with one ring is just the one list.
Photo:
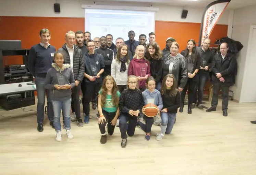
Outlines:
{"label": "black trousers of the person in navy top and blue shoes", "polygon": [[92,100],[92,95],[97,93],[96,103],[98,103],[98,93],[102,86],[102,82],[83,82],[82,92],[83,92],[83,112],[86,116],[90,114],[90,101]]}

